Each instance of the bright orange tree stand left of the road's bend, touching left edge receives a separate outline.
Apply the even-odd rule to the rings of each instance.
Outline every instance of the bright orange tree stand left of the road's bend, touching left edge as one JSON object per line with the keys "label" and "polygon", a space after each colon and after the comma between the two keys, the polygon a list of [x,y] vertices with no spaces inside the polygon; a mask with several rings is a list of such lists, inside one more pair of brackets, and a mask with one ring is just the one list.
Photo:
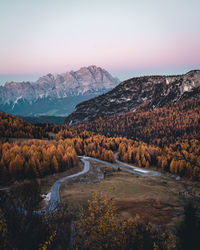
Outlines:
{"label": "bright orange tree stand left of the road's bend, touching left edge", "polygon": [[0,182],[38,178],[64,171],[78,162],[70,141],[0,144]]}

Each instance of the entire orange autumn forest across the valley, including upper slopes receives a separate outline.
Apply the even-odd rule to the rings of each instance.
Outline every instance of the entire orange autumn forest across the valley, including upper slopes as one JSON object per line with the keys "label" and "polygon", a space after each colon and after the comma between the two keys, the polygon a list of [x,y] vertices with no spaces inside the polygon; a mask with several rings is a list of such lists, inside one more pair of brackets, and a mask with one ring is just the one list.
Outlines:
{"label": "entire orange autumn forest across the valley, including upper slopes", "polygon": [[[200,179],[200,101],[99,118],[75,128],[28,124],[1,113],[1,137],[42,138],[58,132],[56,141],[0,144],[1,183],[43,177],[77,165],[77,155],[156,167]],[[103,134],[103,135],[101,135]],[[123,136],[123,137],[122,137]]]}

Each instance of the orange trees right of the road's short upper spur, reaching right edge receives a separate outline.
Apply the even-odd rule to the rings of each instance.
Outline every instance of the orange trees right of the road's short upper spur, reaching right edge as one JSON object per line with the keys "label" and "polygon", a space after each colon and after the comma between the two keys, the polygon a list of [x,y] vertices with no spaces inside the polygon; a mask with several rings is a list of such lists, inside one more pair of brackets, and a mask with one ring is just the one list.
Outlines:
{"label": "orange trees right of the road's short upper spur, reaching right edge", "polygon": [[160,148],[144,142],[124,140],[119,145],[119,158],[139,167],[158,169],[194,180],[200,179],[200,142],[178,140]]}

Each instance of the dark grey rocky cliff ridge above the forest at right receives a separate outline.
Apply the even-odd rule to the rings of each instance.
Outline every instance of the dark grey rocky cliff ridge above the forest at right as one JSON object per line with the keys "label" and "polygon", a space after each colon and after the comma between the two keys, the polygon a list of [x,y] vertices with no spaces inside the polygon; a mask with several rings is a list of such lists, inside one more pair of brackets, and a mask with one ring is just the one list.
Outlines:
{"label": "dark grey rocky cliff ridge above the forest at right", "polygon": [[80,103],[66,118],[75,125],[134,110],[146,103],[149,108],[162,107],[181,99],[200,97],[200,70],[176,76],[144,76],[120,83],[113,90]]}

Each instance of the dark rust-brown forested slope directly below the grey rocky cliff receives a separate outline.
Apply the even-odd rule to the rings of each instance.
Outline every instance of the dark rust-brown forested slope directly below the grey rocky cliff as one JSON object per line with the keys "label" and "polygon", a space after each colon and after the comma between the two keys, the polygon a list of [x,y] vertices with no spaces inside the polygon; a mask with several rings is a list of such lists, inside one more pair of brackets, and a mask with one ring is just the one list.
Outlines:
{"label": "dark rust-brown forested slope directly below the grey rocky cliff", "polygon": [[99,118],[77,126],[106,136],[125,136],[159,146],[181,139],[200,139],[200,100],[181,101],[173,106]]}

